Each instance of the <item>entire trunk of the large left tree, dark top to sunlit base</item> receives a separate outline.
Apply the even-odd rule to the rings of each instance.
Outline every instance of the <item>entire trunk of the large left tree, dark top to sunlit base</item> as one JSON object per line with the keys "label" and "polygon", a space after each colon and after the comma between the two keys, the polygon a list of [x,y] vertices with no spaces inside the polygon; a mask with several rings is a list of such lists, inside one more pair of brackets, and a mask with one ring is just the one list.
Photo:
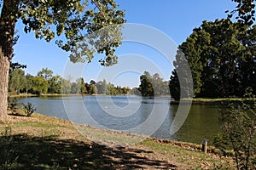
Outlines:
{"label": "entire trunk of the large left tree, dark top to sunlit base", "polygon": [[7,118],[9,63],[14,51],[18,5],[19,0],[3,0],[0,17],[0,122],[5,122]]}

